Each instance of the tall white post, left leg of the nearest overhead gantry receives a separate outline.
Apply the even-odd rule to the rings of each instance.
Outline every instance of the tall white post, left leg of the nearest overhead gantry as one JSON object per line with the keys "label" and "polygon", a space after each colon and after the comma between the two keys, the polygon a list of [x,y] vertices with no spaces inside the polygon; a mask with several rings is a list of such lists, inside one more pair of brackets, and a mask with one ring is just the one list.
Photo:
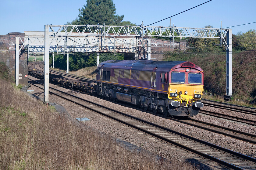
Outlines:
{"label": "tall white post, left leg of the nearest overhead gantry", "polygon": [[49,103],[49,25],[44,25],[44,102]]}

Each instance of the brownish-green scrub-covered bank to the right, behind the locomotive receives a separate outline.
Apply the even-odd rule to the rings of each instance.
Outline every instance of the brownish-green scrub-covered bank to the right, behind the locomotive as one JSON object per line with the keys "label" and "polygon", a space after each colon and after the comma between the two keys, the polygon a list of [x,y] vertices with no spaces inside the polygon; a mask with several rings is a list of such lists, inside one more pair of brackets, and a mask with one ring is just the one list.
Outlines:
{"label": "brownish-green scrub-covered bank to the right, behind the locomotive", "polygon": [[[233,52],[232,94],[237,99],[256,101],[256,52]],[[204,70],[204,90],[226,94],[226,52],[167,52],[164,61],[190,61]]]}

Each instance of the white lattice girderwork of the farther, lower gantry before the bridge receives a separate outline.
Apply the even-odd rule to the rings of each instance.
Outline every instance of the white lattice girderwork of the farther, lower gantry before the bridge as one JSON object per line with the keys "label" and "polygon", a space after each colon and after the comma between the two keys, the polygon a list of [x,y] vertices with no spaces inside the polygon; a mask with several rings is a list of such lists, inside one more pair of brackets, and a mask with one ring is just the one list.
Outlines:
{"label": "white lattice girderwork of the farther, lower gantry before the bridge", "polygon": [[[49,52],[119,52],[123,48],[124,53],[136,51],[136,39],[111,38],[99,42],[98,37],[52,37],[49,36]],[[29,44],[30,52],[44,52],[44,37],[25,37],[22,46]],[[141,39],[137,39],[137,44]],[[99,48],[98,48],[99,47]],[[115,47],[115,48],[114,48]]]}

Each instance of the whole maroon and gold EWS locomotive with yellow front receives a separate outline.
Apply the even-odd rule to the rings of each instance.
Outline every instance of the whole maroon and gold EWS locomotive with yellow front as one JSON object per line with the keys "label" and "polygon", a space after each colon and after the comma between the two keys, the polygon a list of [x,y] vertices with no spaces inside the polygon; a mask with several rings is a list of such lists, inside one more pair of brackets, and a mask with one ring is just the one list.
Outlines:
{"label": "whole maroon and gold EWS locomotive with yellow front", "polygon": [[194,116],[203,107],[203,78],[187,61],[108,60],[97,67],[95,92],[164,116]]}

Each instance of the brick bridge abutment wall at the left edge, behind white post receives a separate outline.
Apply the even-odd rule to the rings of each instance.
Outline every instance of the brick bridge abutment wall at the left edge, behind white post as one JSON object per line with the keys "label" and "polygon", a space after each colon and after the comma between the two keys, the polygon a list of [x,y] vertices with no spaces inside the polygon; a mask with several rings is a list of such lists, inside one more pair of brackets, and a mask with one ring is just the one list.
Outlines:
{"label": "brick bridge abutment wall at the left edge, behind white post", "polygon": [[[0,35],[0,62],[4,62],[6,66],[12,70],[10,76],[15,77],[15,44],[16,37],[24,37],[24,33],[10,32],[6,35]],[[21,41],[19,42],[21,44]],[[22,74],[19,79],[19,84],[27,85],[27,53],[19,53],[19,74]]]}

